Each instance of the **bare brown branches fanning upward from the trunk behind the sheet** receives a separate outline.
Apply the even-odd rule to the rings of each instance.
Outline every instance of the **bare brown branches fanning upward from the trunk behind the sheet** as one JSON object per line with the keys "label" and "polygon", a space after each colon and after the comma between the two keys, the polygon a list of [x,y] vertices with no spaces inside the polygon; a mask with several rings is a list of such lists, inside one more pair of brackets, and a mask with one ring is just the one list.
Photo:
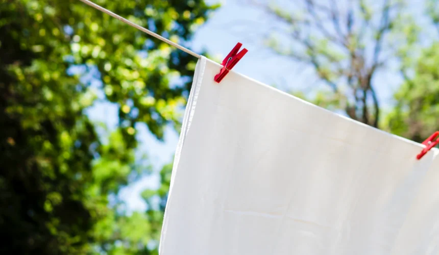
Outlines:
{"label": "bare brown branches fanning upward from the trunk behind the sheet", "polygon": [[[256,1],[256,0],[249,0]],[[391,0],[383,0],[382,10],[374,15],[378,17],[378,28],[373,25],[376,16],[368,10],[365,0],[349,2],[348,8],[341,10],[337,7],[336,0],[328,0],[322,4],[320,0],[302,0],[305,8],[305,17],[291,15],[283,9],[263,5],[267,13],[274,16],[284,24],[292,25],[291,30],[284,31],[294,41],[293,46],[299,46],[289,52],[278,48],[277,53],[295,61],[310,64],[318,77],[327,84],[333,93],[342,98],[340,108],[353,119],[366,124],[378,126],[380,117],[380,104],[375,88],[372,86],[372,77],[386,59],[384,40],[386,34],[392,29],[394,22],[393,8],[398,4],[391,4]],[[357,15],[357,8],[360,15]],[[373,18],[372,18],[373,17]],[[439,24],[438,30],[439,30]],[[368,30],[375,32],[372,42],[372,56],[366,52],[366,47],[359,43],[368,36]],[[281,32],[282,33],[282,32]],[[315,37],[315,38],[314,38]],[[369,41],[365,40],[365,41]],[[327,43],[327,45],[326,45]],[[272,48],[277,49],[277,44]],[[340,52],[333,52],[327,46],[335,46]],[[368,47],[369,49],[369,47]],[[347,80],[344,80],[344,79]],[[342,91],[339,81],[347,81],[348,92]],[[372,103],[373,102],[373,103]]]}

